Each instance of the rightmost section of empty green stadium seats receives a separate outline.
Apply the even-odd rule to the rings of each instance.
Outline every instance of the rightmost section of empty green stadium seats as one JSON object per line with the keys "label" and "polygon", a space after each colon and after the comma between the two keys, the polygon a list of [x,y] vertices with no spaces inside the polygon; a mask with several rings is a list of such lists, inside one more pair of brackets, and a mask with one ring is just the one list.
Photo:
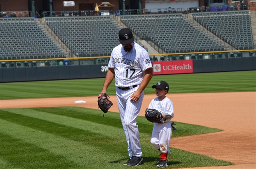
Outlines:
{"label": "rightmost section of empty green stadium seats", "polygon": [[193,13],[192,17],[237,50],[254,49],[250,11]]}

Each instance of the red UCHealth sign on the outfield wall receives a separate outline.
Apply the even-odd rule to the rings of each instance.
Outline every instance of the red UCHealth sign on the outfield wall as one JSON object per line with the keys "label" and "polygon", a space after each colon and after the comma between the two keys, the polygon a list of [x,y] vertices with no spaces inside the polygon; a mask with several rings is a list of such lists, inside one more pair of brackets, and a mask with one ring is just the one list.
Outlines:
{"label": "red UCHealth sign on the outfield wall", "polygon": [[153,62],[153,74],[193,73],[192,60]]}

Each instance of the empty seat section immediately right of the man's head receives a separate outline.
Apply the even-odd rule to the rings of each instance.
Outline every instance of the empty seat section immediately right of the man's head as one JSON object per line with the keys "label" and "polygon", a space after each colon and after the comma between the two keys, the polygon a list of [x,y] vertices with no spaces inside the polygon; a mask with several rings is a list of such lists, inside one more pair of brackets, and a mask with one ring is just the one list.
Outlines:
{"label": "empty seat section immediately right of the man's head", "polygon": [[166,53],[228,49],[183,14],[125,15],[120,20],[138,37],[149,39]]}

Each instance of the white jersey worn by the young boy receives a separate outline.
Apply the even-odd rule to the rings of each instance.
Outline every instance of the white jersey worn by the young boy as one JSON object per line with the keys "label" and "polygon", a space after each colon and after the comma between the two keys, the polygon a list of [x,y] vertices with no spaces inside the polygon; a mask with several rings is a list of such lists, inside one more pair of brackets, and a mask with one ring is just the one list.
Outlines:
{"label": "white jersey worn by the young boy", "polygon": [[[159,101],[158,97],[156,97],[150,102],[148,108],[158,110],[160,113],[168,113],[169,115],[174,117],[173,103],[168,97],[166,97],[162,101]],[[172,118],[164,118],[163,120],[171,121],[171,119]]]}

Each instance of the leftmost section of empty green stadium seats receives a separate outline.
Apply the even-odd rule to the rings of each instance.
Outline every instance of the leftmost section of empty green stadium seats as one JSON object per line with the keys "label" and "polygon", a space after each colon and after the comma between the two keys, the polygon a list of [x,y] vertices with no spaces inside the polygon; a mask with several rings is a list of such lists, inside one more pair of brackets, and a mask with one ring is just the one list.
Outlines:
{"label": "leftmost section of empty green stadium seats", "polygon": [[0,18],[1,59],[64,57],[64,51],[33,17]]}

